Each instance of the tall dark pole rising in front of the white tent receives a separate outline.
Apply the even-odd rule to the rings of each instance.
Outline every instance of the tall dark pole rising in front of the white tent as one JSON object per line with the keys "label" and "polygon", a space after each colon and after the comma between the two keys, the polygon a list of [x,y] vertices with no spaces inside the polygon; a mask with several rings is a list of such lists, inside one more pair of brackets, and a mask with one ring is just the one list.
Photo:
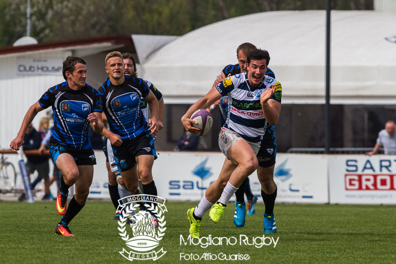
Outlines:
{"label": "tall dark pole rising in front of the white tent", "polygon": [[326,103],[325,103],[325,154],[330,153],[330,13],[331,0],[326,0]]}

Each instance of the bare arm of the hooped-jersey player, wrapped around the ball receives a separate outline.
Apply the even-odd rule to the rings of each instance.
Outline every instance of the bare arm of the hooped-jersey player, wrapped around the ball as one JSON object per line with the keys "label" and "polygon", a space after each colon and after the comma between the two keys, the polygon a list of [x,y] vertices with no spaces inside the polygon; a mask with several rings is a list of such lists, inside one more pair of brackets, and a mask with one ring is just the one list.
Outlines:
{"label": "bare arm of the hooped-jersey player, wrapped around the ball", "polygon": [[213,85],[212,89],[210,89],[210,91],[202,99],[198,100],[194,105],[192,105],[182,116],[181,121],[184,128],[193,134],[199,134],[201,130],[192,126],[192,124],[197,124],[197,122],[190,118],[191,115],[198,109],[206,109],[220,98],[221,94],[219,91],[217,91],[215,85]]}

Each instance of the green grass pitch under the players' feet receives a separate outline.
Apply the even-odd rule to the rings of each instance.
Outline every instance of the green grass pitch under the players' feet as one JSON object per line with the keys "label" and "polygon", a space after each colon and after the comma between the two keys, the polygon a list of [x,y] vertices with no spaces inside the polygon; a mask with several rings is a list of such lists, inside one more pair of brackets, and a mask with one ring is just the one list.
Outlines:
{"label": "green grass pitch under the players' feet", "polygon": [[[167,229],[160,246],[167,253],[155,263],[226,263],[205,260],[214,255],[231,258],[232,263],[396,263],[394,206],[277,204],[278,233],[265,235],[275,240],[279,237],[276,247],[273,243],[261,248],[239,245],[238,240],[236,245],[202,248],[180,243],[180,235],[187,241],[189,234],[186,211],[196,203],[166,202],[165,205]],[[247,215],[245,227],[237,228],[233,224],[234,204],[230,203],[217,224],[205,214],[200,235],[239,239],[243,234],[252,242],[252,237],[263,235],[263,210],[263,204],[258,204],[256,213]],[[55,202],[0,202],[0,262],[152,263],[151,260],[130,262],[118,253],[129,248],[118,234],[118,222],[111,220],[113,211],[110,202],[88,201],[69,225],[75,237],[62,237],[54,233],[61,218]],[[186,257],[180,259],[181,254]],[[238,254],[247,254],[249,259],[233,261]],[[188,256],[198,256],[201,260],[188,261]]]}

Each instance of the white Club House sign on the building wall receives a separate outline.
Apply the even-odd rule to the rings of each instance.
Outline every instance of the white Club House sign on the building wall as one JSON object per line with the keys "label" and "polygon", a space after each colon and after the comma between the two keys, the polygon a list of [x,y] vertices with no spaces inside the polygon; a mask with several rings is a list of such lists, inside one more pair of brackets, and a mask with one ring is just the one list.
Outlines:
{"label": "white Club House sign on the building wall", "polygon": [[62,58],[18,58],[16,72],[18,75],[59,75],[62,61]]}

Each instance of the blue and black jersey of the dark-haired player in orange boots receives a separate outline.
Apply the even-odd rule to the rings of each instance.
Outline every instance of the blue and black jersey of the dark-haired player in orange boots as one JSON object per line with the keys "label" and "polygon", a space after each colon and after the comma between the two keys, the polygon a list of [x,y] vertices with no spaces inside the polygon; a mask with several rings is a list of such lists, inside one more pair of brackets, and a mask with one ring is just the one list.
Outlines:
{"label": "blue and black jersey of the dark-haired player in orange boots", "polygon": [[66,81],[49,88],[39,104],[43,108],[52,106],[53,129],[49,145],[62,145],[74,150],[91,149],[87,117],[92,112],[102,111],[95,88],[85,84],[76,91],[70,89]]}

